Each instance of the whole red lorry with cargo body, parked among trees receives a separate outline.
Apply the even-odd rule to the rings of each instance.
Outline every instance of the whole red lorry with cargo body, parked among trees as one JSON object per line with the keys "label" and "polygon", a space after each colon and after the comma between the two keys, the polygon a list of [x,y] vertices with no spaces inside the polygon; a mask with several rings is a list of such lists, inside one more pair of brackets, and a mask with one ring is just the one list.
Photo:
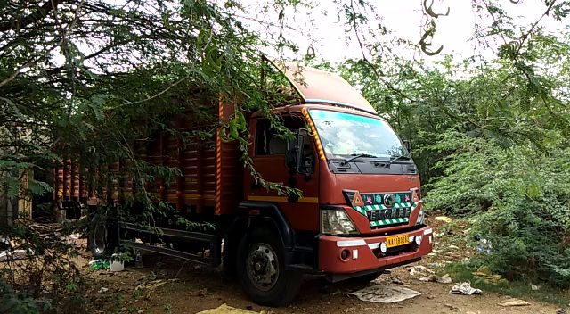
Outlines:
{"label": "whole red lorry with cargo body, parked among trees", "polygon": [[[170,185],[155,183],[151,192],[214,228],[196,232],[163,224],[158,242],[175,245],[156,245],[156,238],[143,236],[155,230],[124,221],[113,225],[117,230],[97,224],[90,237],[94,255],[109,254],[120,241],[136,250],[223,264],[254,302],[278,306],[295,297],[303,274],[331,282],[371,280],[431,252],[418,170],[387,121],[335,74],[290,64],[284,74],[302,102],[273,113],[295,139],[282,140],[264,115],[253,113],[248,153],[263,178],[301,190],[300,198],[256,185],[237,145],[219,134],[216,143],[197,139],[183,149],[175,137],[159,135],[135,153],[179,168],[182,176]],[[216,112],[220,120],[231,119],[233,106],[218,103]],[[186,116],[175,121],[177,128],[191,128],[191,113]],[[56,171],[56,199],[78,201],[86,194],[74,165]],[[115,188],[128,193],[131,184]]]}

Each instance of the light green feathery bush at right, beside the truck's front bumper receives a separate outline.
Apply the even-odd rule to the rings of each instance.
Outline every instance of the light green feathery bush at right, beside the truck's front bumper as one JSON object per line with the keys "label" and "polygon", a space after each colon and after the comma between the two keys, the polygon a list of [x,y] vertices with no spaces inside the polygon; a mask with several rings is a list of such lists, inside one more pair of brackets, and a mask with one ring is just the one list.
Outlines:
{"label": "light green feathery bush at right, beside the truck's front bumper", "polygon": [[510,280],[570,286],[570,149],[561,138],[550,135],[541,152],[450,132],[432,146],[455,153],[437,165],[445,175],[428,186],[429,207],[468,217],[472,236],[493,246],[483,262]]}

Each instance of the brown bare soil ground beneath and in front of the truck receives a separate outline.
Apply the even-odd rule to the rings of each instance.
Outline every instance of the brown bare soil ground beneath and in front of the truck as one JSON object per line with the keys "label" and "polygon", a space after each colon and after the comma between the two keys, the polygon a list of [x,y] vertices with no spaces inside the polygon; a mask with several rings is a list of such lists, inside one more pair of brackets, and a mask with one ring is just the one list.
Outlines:
{"label": "brown bare soil ground beneath and in front of the truck", "polygon": [[[433,221],[435,228],[441,223]],[[464,258],[464,250],[450,244],[436,244],[436,254],[417,265],[433,269],[445,260]],[[87,252],[77,260],[89,280],[89,309],[99,313],[196,313],[216,308],[223,303],[264,313],[556,313],[552,304],[528,299],[531,305],[502,307],[506,296],[484,291],[483,295],[449,293],[453,284],[419,281],[419,274],[401,267],[380,276],[372,284],[403,285],[419,291],[411,300],[392,304],[362,302],[348,293],[363,285],[338,283],[331,285],[319,277],[308,278],[301,293],[289,306],[267,308],[248,300],[236,280],[223,278],[217,269],[161,256],[143,257],[144,267],[128,267],[122,272],[91,271],[87,268]],[[397,283],[397,284],[395,284]],[[104,288],[104,289],[102,289]]]}

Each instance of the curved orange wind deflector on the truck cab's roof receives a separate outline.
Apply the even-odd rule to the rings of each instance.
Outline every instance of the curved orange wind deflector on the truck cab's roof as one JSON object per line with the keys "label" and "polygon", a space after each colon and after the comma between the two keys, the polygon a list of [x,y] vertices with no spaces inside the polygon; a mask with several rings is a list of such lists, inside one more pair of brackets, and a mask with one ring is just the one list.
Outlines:
{"label": "curved orange wind deflector on the truck cab's roof", "polygon": [[292,62],[275,67],[281,70],[305,103],[332,103],[376,114],[356,88],[337,74],[313,68],[299,68]]}

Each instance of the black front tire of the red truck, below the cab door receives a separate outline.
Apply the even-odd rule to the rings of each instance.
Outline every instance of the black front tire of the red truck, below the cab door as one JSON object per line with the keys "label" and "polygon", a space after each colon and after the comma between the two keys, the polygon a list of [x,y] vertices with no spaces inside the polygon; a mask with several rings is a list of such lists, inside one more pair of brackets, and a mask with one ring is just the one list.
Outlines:
{"label": "black front tire of the red truck, below the cab door", "polygon": [[284,305],[297,295],[302,274],[286,269],[281,239],[268,227],[256,227],[243,236],[238,248],[237,270],[249,298],[267,306]]}

